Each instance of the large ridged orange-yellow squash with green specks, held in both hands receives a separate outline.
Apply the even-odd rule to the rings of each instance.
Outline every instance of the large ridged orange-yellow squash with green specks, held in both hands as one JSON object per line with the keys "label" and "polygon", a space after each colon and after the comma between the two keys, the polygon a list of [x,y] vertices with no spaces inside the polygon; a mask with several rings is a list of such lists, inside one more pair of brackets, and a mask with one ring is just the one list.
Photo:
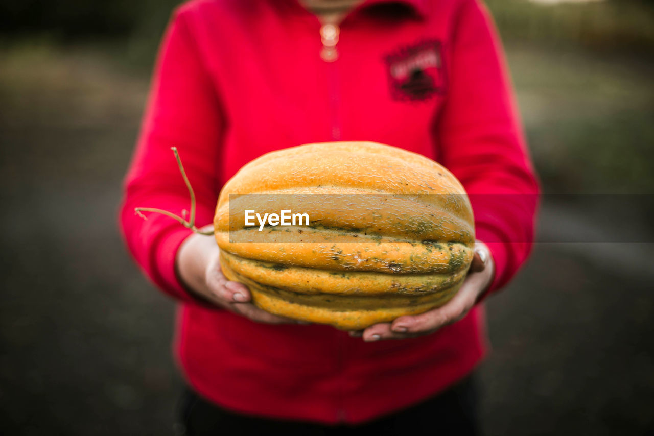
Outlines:
{"label": "large ridged orange-yellow squash with green specks, held in both hands", "polygon": [[[310,222],[260,231],[244,225],[246,209]],[[256,306],[348,330],[447,303],[473,256],[472,208],[455,176],[370,142],[254,159],[220,192],[214,228],[223,273],[246,284]]]}

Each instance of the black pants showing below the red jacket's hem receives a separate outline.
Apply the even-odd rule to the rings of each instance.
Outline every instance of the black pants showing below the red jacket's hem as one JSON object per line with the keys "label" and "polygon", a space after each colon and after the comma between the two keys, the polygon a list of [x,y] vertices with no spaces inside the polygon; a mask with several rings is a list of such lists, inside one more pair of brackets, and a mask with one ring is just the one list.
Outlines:
{"label": "black pants showing below the red jacket's hem", "polygon": [[[327,426],[314,422],[275,420],[227,411],[192,390],[182,395],[181,435],[479,435],[478,395],[473,377],[468,377],[422,403],[359,424]],[[370,432],[370,433],[368,433]]]}

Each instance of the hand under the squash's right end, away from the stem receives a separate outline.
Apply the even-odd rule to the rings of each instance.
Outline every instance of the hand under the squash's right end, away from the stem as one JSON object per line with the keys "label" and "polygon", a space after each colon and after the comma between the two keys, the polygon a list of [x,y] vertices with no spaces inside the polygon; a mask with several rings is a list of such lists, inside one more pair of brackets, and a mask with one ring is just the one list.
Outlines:
{"label": "hand under the squash's right end, away from the stem", "polygon": [[488,246],[475,241],[475,255],[470,265],[468,277],[464,280],[455,297],[444,306],[418,315],[405,315],[393,322],[374,324],[363,331],[351,331],[353,337],[363,337],[364,341],[381,339],[405,339],[434,333],[441,327],[452,324],[466,316],[477,299],[490,286],[495,274],[495,265]]}

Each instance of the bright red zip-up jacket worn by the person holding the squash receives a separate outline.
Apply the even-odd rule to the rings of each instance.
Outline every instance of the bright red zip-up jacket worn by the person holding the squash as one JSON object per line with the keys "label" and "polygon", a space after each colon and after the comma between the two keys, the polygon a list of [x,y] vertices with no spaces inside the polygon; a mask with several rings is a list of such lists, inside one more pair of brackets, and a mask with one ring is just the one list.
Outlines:
{"label": "bright red zip-up jacket worn by the person holding the squash", "polygon": [[[325,54],[323,43],[334,42]],[[500,42],[478,0],[366,1],[343,20],[337,41],[321,41],[318,19],[296,0],[186,3],[163,39],[120,224],[137,263],[181,303],[176,348],[186,379],[223,407],[362,422],[451,386],[485,354],[481,305],[433,335],[377,343],[203,306],[175,275],[189,230],[133,212],[188,209],[171,146],[202,226],[245,163],[337,140],[399,146],[450,169],[472,194],[477,239],[490,245],[491,292],[528,256],[538,186]],[[476,195],[489,193],[511,195]]]}

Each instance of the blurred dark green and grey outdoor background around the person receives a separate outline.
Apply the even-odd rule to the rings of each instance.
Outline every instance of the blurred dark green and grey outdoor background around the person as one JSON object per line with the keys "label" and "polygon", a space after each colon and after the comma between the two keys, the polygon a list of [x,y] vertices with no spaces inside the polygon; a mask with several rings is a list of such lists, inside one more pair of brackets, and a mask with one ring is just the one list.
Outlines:
{"label": "blurred dark green and grey outdoor background around the person", "polygon": [[[177,3],[0,5],[0,433],[173,434],[175,307],[129,260],[116,208]],[[649,243],[536,244],[487,305],[483,426],[489,435],[647,433],[654,1],[487,4],[543,190],[642,194],[630,210],[603,212],[629,215]],[[557,198],[543,203],[542,241],[621,231]]]}

